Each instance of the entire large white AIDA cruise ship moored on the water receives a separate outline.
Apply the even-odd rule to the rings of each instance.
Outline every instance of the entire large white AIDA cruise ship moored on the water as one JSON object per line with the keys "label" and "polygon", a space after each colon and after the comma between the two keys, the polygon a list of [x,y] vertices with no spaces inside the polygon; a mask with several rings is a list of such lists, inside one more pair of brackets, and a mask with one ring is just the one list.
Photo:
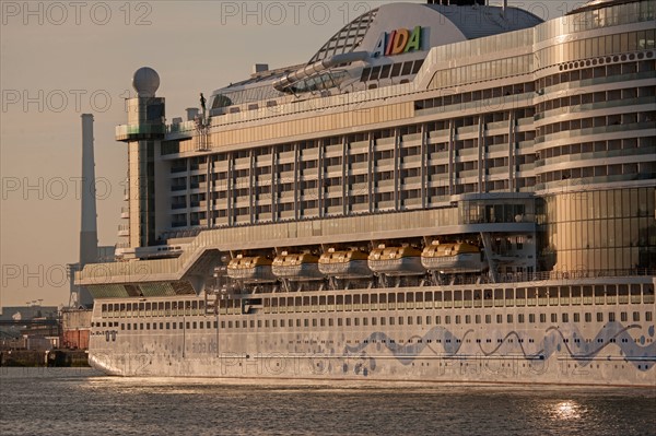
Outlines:
{"label": "entire large white AIDA cruise ship moored on the water", "polygon": [[137,70],[91,364],[656,387],[655,16],[391,3],[171,121]]}

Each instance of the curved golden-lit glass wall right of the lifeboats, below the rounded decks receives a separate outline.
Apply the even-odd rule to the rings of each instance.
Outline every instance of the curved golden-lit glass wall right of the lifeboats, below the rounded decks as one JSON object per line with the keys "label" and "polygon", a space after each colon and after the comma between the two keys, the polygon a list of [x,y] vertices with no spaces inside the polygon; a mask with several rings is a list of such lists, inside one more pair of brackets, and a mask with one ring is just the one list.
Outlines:
{"label": "curved golden-lit glass wall right of the lifeboats, below the rounded decks", "polygon": [[593,275],[656,269],[656,188],[546,197],[543,268]]}

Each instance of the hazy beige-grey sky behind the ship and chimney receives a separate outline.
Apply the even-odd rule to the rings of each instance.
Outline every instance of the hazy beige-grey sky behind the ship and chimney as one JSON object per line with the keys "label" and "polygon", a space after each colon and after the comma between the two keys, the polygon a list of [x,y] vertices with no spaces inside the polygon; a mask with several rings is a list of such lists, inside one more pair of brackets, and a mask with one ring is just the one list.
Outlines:
{"label": "hazy beige-grey sky behind the ship and chimney", "polygon": [[[69,302],[82,114],[95,118],[98,241],[116,244],[127,150],[114,129],[127,120],[124,99],[134,95],[137,69],[159,72],[167,119],[184,117],[200,92],[248,78],[255,63],[306,62],[382,3],[0,0],[0,309]],[[508,3],[549,20],[583,2]]]}

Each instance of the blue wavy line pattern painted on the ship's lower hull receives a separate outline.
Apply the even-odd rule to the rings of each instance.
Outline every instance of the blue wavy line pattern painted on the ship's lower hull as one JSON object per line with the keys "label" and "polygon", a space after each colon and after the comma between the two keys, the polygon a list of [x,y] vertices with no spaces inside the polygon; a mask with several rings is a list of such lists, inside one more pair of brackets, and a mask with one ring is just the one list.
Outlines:
{"label": "blue wavy line pattern painted on the ship's lower hull", "polygon": [[[524,354],[526,360],[548,360],[551,355],[563,350],[570,354],[570,357],[578,362],[582,366],[588,365],[593,358],[597,357],[606,347],[610,345],[617,345],[620,347],[622,354],[630,358],[644,358],[652,361],[645,364],[644,361],[629,361],[636,369],[646,372],[654,366],[653,361],[656,360],[656,342],[652,342],[648,345],[642,346],[646,342],[646,338],[642,335],[637,341],[631,337],[630,330],[641,329],[640,325],[630,325],[624,327],[620,322],[609,322],[605,329],[597,333],[597,337],[590,342],[586,342],[577,328],[561,329],[559,327],[550,327],[546,330],[542,339],[541,349],[536,352],[529,352],[525,347],[524,341],[526,339],[516,331],[508,332],[502,342],[495,344],[494,347],[487,349],[483,343],[478,343],[482,356],[490,357],[499,355],[500,349],[509,343],[511,339],[516,339],[513,342],[513,346],[518,346]],[[347,345],[344,354],[358,354],[363,353],[370,346],[385,345],[389,352],[403,365],[410,365],[417,358],[420,357],[421,353],[429,349],[434,354],[440,354],[432,345],[434,342],[440,341],[444,347],[446,356],[454,358],[465,358],[467,355],[458,354],[460,349],[465,344],[467,337],[471,335],[475,331],[468,330],[465,332],[462,338],[457,338],[448,329],[444,327],[434,327],[423,337],[409,338],[413,343],[401,345],[397,344],[390,337],[384,332],[372,333],[367,339],[362,341],[356,346]],[[648,335],[654,338],[654,326],[648,328]],[[565,341],[570,339],[570,341]],[[576,339],[581,339],[579,342],[575,342]],[[431,341],[431,342],[429,342]],[[571,343],[574,342],[574,343]],[[536,345],[537,346],[537,345]],[[610,355],[608,356],[610,358]],[[371,357],[373,360],[373,357]],[[375,365],[375,363],[374,363]]]}

